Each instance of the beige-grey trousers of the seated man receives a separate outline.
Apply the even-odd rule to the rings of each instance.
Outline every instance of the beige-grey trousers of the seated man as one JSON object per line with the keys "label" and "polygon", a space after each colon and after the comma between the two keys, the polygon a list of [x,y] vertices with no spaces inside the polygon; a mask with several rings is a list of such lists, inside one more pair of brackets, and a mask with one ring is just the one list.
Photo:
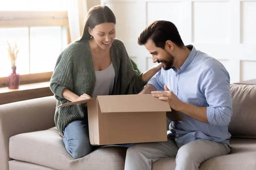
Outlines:
{"label": "beige-grey trousers of the seated man", "polygon": [[151,170],[152,163],[164,157],[176,157],[175,170],[198,170],[202,162],[229,153],[227,144],[196,139],[179,145],[174,139],[168,138],[167,142],[140,143],[129,147],[125,170]]}

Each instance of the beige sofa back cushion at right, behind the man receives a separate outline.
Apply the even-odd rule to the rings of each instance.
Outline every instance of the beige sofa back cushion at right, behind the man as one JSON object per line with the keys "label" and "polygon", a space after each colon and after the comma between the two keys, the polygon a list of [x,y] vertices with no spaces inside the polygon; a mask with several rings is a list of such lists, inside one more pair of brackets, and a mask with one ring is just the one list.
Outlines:
{"label": "beige sofa back cushion at right, behind the man", "polygon": [[256,139],[256,85],[230,85],[233,116],[229,125],[232,137]]}

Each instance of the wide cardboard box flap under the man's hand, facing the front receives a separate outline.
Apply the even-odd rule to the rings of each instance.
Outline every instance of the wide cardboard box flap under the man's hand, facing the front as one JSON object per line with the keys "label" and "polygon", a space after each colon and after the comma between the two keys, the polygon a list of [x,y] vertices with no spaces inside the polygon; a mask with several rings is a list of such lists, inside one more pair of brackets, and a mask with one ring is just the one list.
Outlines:
{"label": "wide cardboard box flap under the man's hand, facing the front", "polygon": [[152,94],[98,96],[98,101],[102,113],[172,111],[168,102]]}

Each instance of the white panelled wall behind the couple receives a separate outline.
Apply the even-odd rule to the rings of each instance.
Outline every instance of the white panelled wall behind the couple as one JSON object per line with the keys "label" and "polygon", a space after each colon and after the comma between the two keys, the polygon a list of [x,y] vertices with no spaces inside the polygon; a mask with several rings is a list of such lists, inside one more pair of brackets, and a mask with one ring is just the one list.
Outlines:
{"label": "white panelled wall behind the couple", "polygon": [[125,43],[140,71],[153,64],[137,45],[140,32],[154,20],[177,26],[185,45],[215,57],[231,83],[256,79],[256,0],[101,0],[116,15],[116,38]]}

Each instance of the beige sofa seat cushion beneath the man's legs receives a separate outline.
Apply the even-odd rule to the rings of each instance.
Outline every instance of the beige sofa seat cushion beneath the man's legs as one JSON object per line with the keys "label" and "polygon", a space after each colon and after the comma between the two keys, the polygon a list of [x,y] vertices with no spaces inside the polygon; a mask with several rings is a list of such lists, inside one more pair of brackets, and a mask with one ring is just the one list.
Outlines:
{"label": "beige sofa seat cushion beneath the man's legs", "polygon": [[[256,170],[256,139],[231,138],[230,154],[209,159],[199,170]],[[152,170],[175,170],[175,158],[161,158]]]}

